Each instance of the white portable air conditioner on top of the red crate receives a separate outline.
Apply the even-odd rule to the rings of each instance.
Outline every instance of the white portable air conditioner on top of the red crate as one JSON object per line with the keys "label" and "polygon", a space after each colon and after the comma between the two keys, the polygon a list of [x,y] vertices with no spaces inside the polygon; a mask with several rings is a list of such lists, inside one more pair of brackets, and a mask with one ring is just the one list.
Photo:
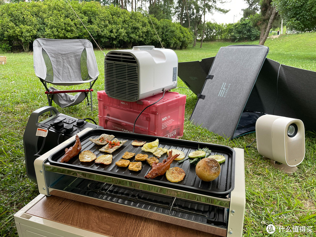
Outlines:
{"label": "white portable air conditioner on top of the red crate", "polygon": [[112,50],[104,59],[104,90],[109,97],[137,101],[177,86],[178,57],[171,49],[136,46]]}

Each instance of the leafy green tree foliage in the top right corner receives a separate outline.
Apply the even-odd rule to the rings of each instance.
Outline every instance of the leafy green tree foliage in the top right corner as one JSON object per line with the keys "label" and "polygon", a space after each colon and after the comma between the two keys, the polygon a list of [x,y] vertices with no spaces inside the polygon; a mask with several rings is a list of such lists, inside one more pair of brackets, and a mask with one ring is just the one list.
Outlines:
{"label": "leafy green tree foliage in the top right corner", "polygon": [[297,32],[316,30],[315,0],[274,0],[285,25]]}

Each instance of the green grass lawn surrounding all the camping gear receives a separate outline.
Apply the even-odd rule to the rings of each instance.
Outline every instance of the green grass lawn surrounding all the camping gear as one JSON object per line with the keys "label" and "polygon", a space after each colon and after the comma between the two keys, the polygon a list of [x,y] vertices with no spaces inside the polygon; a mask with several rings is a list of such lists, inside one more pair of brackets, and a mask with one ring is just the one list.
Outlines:
{"label": "green grass lawn surrounding all the camping gear", "polygon": [[[179,62],[213,57],[221,46],[232,44],[258,44],[254,42],[204,42],[199,48],[189,46],[176,50]],[[268,39],[268,58],[281,64],[316,71],[316,33],[281,35]],[[107,52],[107,51],[105,51]],[[32,53],[3,53],[7,64],[0,65],[0,236],[18,236],[13,214],[39,192],[37,185],[26,176],[23,132],[30,114],[47,105],[43,85],[35,76]],[[61,113],[75,118],[93,118],[98,121],[97,91],[104,90],[104,56],[95,51],[100,76],[94,85],[94,111],[84,104],[60,108]],[[178,86],[185,86],[179,80]],[[192,125],[189,117],[197,97],[190,90],[176,88],[187,95],[185,128],[182,139],[216,143],[229,147],[245,148],[255,134],[228,141],[206,129]],[[255,144],[254,144],[255,145]],[[293,174],[286,174],[269,165],[256,149],[245,148],[246,211],[244,236],[267,236],[268,224],[277,227],[275,236],[316,236],[316,138],[315,132],[306,133],[306,156]],[[238,172],[236,173],[238,175]],[[286,232],[295,226],[312,227],[313,232]],[[283,227],[283,232],[278,232]],[[278,233],[277,233],[278,232]]]}

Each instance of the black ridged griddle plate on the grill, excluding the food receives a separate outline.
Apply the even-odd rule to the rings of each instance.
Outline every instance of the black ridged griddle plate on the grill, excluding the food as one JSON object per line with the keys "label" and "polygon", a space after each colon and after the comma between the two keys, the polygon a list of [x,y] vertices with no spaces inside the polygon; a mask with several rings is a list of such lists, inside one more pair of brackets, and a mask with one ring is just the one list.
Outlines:
{"label": "black ridged griddle plate on the grill, excluding the food", "polygon": [[[96,164],[94,161],[92,162],[80,162],[79,155],[72,158],[67,163],[59,162],[61,157],[65,154],[64,150],[69,148],[75,144],[75,141],[66,144],[62,149],[52,153],[48,160],[49,162],[58,167],[63,167],[66,169],[96,173],[106,176],[112,176],[119,179],[133,180],[140,183],[157,185],[162,187],[168,187],[173,189],[179,189],[182,191],[188,191],[193,193],[205,194],[210,196],[220,196],[225,197],[234,189],[234,167],[235,167],[235,152],[233,149],[222,146],[215,145],[210,143],[199,143],[187,140],[180,140],[174,138],[166,138],[166,137],[155,137],[150,135],[142,135],[135,133],[126,133],[120,131],[112,131],[112,130],[104,130],[104,129],[94,129],[90,130],[87,133],[80,136],[80,141],[82,145],[82,150],[90,150],[97,157],[100,155],[105,155],[108,153],[101,152],[99,149],[102,147],[100,145],[96,145],[89,141],[89,138],[98,138],[101,134],[109,134],[114,135],[115,138],[119,140],[127,140],[127,142],[114,151],[112,153],[113,159],[110,165]],[[219,177],[211,182],[205,182],[199,179],[195,173],[195,166],[189,163],[189,160],[186,160],[182,163],[178,163],[177,161],[173,161],[170,167],[180,167],[185,171],[185,178],[178,182],[172,183],[167,180],[165,175],[161,175],[156,177],[155,179],[147,179],[144,176],[151,170],[151,166],[146,162],[142,161],[143,168],[141,171],[134,172],[130,171],[128,167],[118,167],[115,165],[115,162],[122,159],[123,154],[128,152],[133,153],[142,153],[147,154],[148,157],[154,156],[150,152],[144,152],[141,150],[142,146],[136,147],[132,146],[131,143],[135,139],[153,142],[156,139],[159,139],[158,147],[167,148],[167,149],[178,149],[185,153],[185,157],[192,151],[197,150],[198,148],[207,147],[212,150],[210,155],[223,155],[226,158],[226,161],[221,164],[221,173]],[[167,154],[161,155],[159,162],[163,159],[167,158]],[[135,161],[135,157],[129,159],[131,162]]]}

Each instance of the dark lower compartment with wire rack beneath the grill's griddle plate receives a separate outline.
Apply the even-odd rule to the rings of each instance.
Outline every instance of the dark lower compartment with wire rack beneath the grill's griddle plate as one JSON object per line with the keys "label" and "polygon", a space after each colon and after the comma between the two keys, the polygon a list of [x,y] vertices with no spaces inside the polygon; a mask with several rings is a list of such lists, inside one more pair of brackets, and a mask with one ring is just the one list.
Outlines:
{"label": "dark lower compartment with wire rack beneath the grill's griddle plate", "polygon": [[193,222],[227,228],[228,209],[176,197],[64,175],[51,188],[124,204]]}

